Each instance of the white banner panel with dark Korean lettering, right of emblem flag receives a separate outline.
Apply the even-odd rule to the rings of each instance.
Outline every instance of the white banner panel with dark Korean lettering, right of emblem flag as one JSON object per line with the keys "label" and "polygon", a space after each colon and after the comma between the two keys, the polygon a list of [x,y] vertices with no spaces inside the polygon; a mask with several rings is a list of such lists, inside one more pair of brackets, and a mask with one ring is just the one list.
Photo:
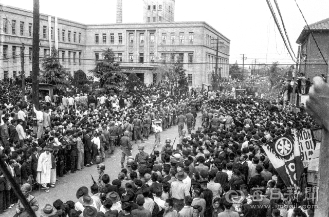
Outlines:
{"label": "white banner panel with dark Korean lettering, right of emblem flag", "polygon": [[315,144],[310,129],[294,132],[295,139],[298,139],[300,157],[303,161],[304,168],[308,167],[309,160],[312,158]]}

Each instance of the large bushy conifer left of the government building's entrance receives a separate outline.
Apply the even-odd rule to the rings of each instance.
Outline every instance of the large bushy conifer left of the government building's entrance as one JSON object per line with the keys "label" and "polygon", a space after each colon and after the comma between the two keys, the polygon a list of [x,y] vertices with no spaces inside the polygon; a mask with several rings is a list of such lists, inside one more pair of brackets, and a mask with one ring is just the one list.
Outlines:
{"label": "large bushy conifer left of the government building's entrance", "polygon": [[92,72],[95,77],[99,78],[100,89],[99,92],[116,92],[126,82],[127,76],[122,73],[120,63],[117,62],[112,49],[107,48],[102,53],[103,60],[97,61],[96,67],[89,72]]}

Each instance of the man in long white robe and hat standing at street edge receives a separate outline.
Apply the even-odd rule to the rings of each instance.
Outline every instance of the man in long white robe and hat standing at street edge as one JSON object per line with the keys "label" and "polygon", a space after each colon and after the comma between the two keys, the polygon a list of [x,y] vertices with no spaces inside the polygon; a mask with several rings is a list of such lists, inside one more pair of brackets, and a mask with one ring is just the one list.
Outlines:
{"label": "man in long white robe and hat standing at street edge", "polygon": [[36,176],[36,182],[41,184],[42,189],[49,192],[49,187],[47,187],[47,184],[50,183],[52,166],[50,151],[52,151],[52,147],[50,145],[46,145],[44,150],[45,152],[41,153],[38,159],[38,168],[36,169],[36,171],[38,171],[38,175]]}

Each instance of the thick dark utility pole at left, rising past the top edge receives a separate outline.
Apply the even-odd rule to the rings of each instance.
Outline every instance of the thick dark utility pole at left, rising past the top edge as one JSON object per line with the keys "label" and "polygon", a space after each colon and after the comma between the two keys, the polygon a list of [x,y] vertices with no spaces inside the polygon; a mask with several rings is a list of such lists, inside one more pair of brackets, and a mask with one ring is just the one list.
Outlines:
{"label": "thick dark utility pole at left, rising past the top edge", "polygon": [[39,110],[39,0],[33,0],[32,104]]}

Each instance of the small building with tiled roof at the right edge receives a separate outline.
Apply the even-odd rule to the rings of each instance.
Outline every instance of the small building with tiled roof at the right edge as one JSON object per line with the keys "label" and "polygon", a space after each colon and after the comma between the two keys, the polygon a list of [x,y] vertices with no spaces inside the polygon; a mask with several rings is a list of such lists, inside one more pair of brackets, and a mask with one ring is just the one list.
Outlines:
{"label": "small building with tiled roof at the right edge", "polygon": [[[325,60],[329,63],[329,18],[309,25]],[[299,72],[312,80],[315,76],[327,73],[327,66],[316,43],[305,26],[296,41],[301,46]]]}

